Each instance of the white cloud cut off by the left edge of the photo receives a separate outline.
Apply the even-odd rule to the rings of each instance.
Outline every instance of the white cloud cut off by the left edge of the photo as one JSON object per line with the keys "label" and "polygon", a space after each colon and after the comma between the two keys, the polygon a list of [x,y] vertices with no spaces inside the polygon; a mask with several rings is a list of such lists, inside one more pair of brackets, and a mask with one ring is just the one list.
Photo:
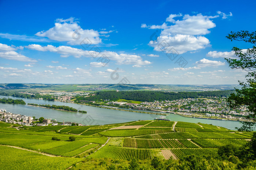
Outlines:
{"label": "white cloud cut off by the left edge of the photo", "polygon": [[0,57],[8,60],[16,60],[16,61],[27,61],[27,62],[37,62],[32,58],[23,56],[20,53],[15,52],[16,48],[8,46],[6,44],[0,43]]}

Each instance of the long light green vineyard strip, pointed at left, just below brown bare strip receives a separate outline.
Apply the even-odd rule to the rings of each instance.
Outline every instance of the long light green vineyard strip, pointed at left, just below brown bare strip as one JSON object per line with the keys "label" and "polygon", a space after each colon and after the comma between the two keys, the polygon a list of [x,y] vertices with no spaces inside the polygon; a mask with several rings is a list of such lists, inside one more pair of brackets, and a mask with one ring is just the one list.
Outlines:
{"label": "long light green vineyard strip, pointed at left, just below brown bare strip", "polygon": [[140,136],[150,135],[155,133],[170,132],[169,130],[110,130],[105,132],[99,132],[100,135],[110,137],[128,137],[128,136]]}

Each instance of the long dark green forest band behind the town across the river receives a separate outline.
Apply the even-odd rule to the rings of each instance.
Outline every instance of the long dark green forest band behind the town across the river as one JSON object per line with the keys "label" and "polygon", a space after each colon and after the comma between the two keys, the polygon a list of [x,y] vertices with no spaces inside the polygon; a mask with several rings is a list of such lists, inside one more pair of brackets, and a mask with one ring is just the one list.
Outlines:
{"label": "long dark green forest band behind the town across the river", "polygon": [[80,101],[100,101],[109,99],[110,101],[118,101],[119,99],[153,102],[176,100],[184,98],[199,97],[228,97],[234,90],[223,91],[204,91],[204,92],[162,92],[162,91],[99,91],[89,97],[78,97],[75,102]]}

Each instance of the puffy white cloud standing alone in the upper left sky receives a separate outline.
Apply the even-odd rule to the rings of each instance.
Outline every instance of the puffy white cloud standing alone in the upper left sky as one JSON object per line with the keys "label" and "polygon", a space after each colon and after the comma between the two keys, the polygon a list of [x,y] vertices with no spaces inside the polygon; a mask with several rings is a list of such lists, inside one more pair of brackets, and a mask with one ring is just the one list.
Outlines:
{"label": "puffy white cloud standing alone in the upper left sky", "polygon": [[68,44],[72,45],[80,44],[84,38],[88,38],[89,44],[101,43],[98,31],[92,29],[83,30],[76,21],[74,21],[74,18],[57,19],[54,25],[55,26],[49,30],[40,31],[35,35],[39,37],[48,37],[55,41],[67,41]]}

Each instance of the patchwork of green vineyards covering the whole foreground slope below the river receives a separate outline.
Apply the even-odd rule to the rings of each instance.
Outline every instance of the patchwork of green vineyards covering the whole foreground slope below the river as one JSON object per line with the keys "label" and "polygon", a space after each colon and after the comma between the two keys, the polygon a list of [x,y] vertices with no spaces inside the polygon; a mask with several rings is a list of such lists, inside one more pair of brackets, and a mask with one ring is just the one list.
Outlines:
{"label": "patchwork of green vineyards covering the whole foreground slope below the river", "polygon": [[[84,156],[86,159],[148,160],[156,155],[162,159],[180,159],[191,154],[209,155],[227,144],[241,147],[253,135],[252,132],[229,131],[201,123],[177,122],[173,127],[174,122],[171,121],[136,121],[126,125],[23,126],[17,130],[11,124],[0,122],[0,147],[3,152],[18,150],[18,155],[24,154],[27,158],[36,158],[35,160],[49,157],[46,166],[65,160],[65,163],[56,166],[56,169],[65,169],[83,160]],[[129,126],[138,128],[122,129]],[[121,128],[115,129],[118,127]],[[173,128],[175,131],[172,131]],[[70,136],[74,136],[75,141],[70,141]],[[52,137],[58,140],[52,140]],[[27,151],[6,146],[24,148]],[[7,154],[7,157],[10,155],[12,154]],[[18,158],[14,156],[11,160],[16,159]],[[24,169],[25,164],[22,161],[25,160],[20,160],[20,169]],[[1,162],[1,167],[10,166],[10,162]],[[31,165],[33,163],[32,161]],[[37,167],[40,166],[42,165]]]}

